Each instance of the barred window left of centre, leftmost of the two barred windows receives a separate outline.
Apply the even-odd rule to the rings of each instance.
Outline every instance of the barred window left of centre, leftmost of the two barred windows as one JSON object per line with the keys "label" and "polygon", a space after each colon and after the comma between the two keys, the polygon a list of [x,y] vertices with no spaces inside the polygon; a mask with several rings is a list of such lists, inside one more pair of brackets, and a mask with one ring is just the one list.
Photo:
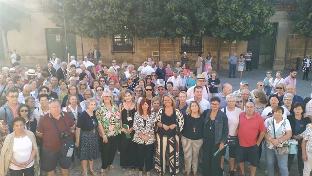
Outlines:
{"label": "barred window left of centre, leftmost of the two barred windows", "polygon": [[133,39],[127,36],[116,34],[112,36],[112,52],[134,53]]}

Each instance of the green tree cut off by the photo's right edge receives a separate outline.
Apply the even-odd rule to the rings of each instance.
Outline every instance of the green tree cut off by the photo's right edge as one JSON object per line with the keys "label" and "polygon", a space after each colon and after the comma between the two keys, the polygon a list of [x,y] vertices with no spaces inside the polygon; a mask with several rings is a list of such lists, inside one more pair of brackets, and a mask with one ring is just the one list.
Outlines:
{"label": "green tree cut off by the photo's right edge", "polygon": [[308,39],[312,37],[312,0],[298,0],[296,9],[288,18],[293,22],[292,30],[305,37],[303,57],[306,57]]}

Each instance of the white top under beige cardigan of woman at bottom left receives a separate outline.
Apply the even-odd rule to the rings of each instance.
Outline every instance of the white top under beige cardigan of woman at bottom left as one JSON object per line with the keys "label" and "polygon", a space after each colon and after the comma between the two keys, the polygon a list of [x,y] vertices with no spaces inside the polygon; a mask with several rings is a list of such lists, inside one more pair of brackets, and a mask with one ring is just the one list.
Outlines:
{"label": "white top under beige cardigan of woman at bottom left", "polygon": [[[14,137],[14,144],[13,144],[13,154],[12,157],[14,160],[18,163],[23,163],[29,160],[31,151],[33,149],[33,143],[29,139],[29,137],[26,135],[22,138]],[[35,164],[35,160],[33,160],[31,163],[28,164],[26,168],[30,168]],[[13,170],[21,170],[26,168],[21,168],[13,163],[10,163],[9,166],[10,169]]]}

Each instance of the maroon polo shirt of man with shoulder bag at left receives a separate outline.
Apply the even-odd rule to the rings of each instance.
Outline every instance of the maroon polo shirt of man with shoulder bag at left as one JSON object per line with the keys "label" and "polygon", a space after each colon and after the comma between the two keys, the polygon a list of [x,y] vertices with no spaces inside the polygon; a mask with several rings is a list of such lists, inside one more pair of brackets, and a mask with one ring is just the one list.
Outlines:
{"label": "maroon polo shirt of man with shoulder bag at left", "polygon": [[[72,140],[70,128],[75,126],[75,122],[73,120],[73,117],[69,113],[65,111],[61,111],[61,112],[63,112],[64,114],[66,126],[62,117],[59,117],[59,120],[55,119],[55,123],[57,124],[59,128],[59,132],[60,133],[69,132],[70,134],[69,140]],[[59,134],[57,130],[55,129],[52,118],[54,117],[52,116],[52,114],[50,115],[50,113],[47,113],[44,116],[42,116],[39,120],[39,124],[37,126],[36,132],[43,135],[42,144],[47,150],[52,151],[52,152],[59,152],[61,143],[59,141]],[[63,140],[63,141],[66,141],[66,140]]]}

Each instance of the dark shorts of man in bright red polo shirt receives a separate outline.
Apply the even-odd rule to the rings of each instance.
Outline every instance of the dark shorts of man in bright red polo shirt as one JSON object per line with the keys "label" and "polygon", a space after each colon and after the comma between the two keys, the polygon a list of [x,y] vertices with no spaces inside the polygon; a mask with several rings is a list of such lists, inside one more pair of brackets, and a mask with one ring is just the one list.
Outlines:
{"label": "dark shorts of man in bright red polo shirt", "polygon": [[236,162],[241,163],[245,162],[248,158],[249,163],[254,166],[259,166],[259,147],[257,144],[251,147],[241,147],[237,146],[236,148]]}

